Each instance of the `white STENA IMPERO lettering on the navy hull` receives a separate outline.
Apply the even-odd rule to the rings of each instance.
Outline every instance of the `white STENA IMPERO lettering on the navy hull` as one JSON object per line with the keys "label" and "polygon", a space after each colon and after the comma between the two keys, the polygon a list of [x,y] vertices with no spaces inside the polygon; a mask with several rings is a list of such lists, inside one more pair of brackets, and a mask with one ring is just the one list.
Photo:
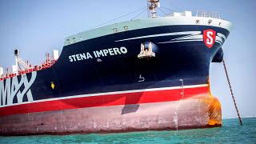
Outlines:
{"label": "white STENA IMPERO lettering on the navy hull", "polygon": [[105,50],[94,50],[93,52],[85,52],[81,54],[70,55],[70,62],[82,61],[90,58],[101,58],[107,56],[113,56],[118,54],[126,54],[126,47],[122,46],[120,48],[110,48]]}

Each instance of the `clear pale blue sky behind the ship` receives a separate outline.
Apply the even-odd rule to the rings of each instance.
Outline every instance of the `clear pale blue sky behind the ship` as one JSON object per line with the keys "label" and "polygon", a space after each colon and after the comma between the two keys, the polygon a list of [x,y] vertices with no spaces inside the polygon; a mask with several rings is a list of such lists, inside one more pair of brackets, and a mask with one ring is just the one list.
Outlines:
{"label": "clear pale blue sky behind the ship", "polygon": [[[158,15],[174,11],[216,11],[233,23],[222,46],[231,86],[242,117],[256,116],[256,1],[161,0]],[[139,10],[145,7],[144,11]],[[136,13],[119,18],[138,10]],[[115,21],[111,21],[118,18]],[[14,50],[36,65],[46,52],[61,52],[67,36],[102,23],[147,18],[146,0],[0,0],[0,66],[14,65]],[[110,22],[111,21],[111,22]],[[222,63],[210,64],[210,90],[222,103],[222,117],[236,118]]]}

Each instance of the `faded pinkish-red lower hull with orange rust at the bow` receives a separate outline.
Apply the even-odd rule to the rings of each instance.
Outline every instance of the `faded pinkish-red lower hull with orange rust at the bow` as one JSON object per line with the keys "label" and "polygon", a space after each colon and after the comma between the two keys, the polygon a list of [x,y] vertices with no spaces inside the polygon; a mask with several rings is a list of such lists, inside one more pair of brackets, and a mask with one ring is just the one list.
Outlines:
{"label": "faded pinkish-red lower hull with orange rust at the bow", "polygon": [[53,110],[0,117],[0,135],[180,130],[222,125],[210,94],[197,99]]}

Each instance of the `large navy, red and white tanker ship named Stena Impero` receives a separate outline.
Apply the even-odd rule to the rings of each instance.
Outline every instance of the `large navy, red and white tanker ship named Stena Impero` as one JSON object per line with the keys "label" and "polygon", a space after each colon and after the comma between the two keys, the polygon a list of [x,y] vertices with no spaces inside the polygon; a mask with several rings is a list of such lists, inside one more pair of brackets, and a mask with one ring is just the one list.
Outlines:
{"label": "large navy, red and white tanker ship named Stena Impero", "polygon": [[[0,70],[0,135],[109,133],[222,126],[210,93],[232,24],[217,13],[174,12],[65,39],[62,53]],[[18,68],[19,64],[24,69]]]}

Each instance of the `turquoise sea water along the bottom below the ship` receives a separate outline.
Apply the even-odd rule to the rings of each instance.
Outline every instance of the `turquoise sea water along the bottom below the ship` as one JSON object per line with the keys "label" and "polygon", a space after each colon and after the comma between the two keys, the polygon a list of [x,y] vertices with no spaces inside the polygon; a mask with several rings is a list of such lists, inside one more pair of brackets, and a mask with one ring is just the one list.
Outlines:
{"label": "turquoise sea water along the bottom below the ship", "polygon": [[143,131],[118,134],[71,134],[0,137],[8,143],[256,143],[256,118],[223,119],[222,127],[194,130]]}

